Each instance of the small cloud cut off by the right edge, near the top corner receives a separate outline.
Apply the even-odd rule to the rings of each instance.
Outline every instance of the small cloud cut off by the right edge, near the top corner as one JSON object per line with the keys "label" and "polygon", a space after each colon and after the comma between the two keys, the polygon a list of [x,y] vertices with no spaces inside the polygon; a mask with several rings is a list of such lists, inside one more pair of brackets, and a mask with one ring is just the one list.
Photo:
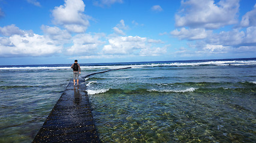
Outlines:
{"label": "small cloud cut off by the right edge, near the top corner", "polygon": [[256,4],[254,5],[254,10],[249,11],[243,15],[240,25],[242,27],[256,26]]}

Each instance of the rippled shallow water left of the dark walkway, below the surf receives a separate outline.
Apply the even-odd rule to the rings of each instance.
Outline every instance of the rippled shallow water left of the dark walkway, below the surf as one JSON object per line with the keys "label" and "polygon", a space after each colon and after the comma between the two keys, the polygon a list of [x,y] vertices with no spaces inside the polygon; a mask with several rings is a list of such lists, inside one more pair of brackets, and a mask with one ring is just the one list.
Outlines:
{"label": "rippled shallow water left of the dark walkway, below the surf", "polygon": [[70,77],[58,70],[0,72],[0,142],[31,142]]}

